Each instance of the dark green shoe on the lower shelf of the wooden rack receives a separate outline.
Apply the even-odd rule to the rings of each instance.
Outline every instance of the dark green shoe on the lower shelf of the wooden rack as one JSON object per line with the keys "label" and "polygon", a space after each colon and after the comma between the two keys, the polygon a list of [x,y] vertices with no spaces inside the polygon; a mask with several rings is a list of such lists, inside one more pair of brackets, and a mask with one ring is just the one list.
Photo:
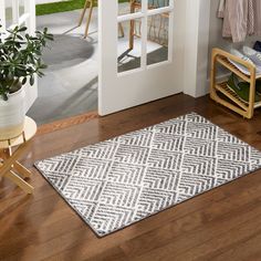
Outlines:
{"label": "dark green shoe on the lower shelf of the wooden rack", "polygon": [[[246,103],[249,103],[249,87],[250,83],[240,82],[236,74],[231,74],[227,86],[234,92],[239,98]],[[261,102],[261,95],[255,92],[254,102]]]}

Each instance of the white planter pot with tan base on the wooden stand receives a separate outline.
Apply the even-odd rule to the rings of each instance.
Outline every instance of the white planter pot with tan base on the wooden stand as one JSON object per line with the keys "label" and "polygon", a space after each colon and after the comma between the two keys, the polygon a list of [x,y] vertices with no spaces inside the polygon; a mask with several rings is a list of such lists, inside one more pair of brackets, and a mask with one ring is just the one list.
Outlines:
{"label": "white planter pot with tan base on the wooden stand", "polygon": [[8,101],[0,98],[0,140],[18,137],[25,118],[25,92],[20,88]]}

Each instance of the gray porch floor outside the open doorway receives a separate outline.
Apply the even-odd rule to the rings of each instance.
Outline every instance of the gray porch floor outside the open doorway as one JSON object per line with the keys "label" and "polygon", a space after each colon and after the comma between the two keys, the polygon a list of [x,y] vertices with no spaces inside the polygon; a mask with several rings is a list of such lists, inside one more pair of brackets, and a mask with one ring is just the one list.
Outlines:
{"label": "gray porch floor outside the open doorway", "polygon": [[80,13],[75,10],[36,18],[38,29],[49,28],[55,39],[44,51],[49,67],[39,79],[39,97],[28,112],[38,124],[97,109],[97,10],[86,40],[85,23],[72,30]]}

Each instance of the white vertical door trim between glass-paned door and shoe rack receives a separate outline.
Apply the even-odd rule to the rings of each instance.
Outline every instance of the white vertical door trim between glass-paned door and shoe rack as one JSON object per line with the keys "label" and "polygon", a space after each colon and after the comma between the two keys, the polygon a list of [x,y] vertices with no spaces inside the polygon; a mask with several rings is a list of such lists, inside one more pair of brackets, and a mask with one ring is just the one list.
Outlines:
{"label": "white vertical door trim between glass-paned door and shoe rack", "polygon": [[184,67],[184,93],[194,97],[209,91],[209,30],[210,0],[186,0],[186,45]]}

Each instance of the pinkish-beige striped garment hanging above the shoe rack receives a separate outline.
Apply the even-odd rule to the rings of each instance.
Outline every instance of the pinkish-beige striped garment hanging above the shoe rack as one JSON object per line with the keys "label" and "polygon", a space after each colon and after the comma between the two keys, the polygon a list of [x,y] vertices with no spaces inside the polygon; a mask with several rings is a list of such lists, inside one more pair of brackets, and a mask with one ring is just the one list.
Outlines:
{"label": "pinkish-beige striped garment hanging above the shoe rack", "polygon": [[259,0],[220,0],[218,17],[223,18],[223,38],[233,42],[244,41],[254,33],[254,6]]}

